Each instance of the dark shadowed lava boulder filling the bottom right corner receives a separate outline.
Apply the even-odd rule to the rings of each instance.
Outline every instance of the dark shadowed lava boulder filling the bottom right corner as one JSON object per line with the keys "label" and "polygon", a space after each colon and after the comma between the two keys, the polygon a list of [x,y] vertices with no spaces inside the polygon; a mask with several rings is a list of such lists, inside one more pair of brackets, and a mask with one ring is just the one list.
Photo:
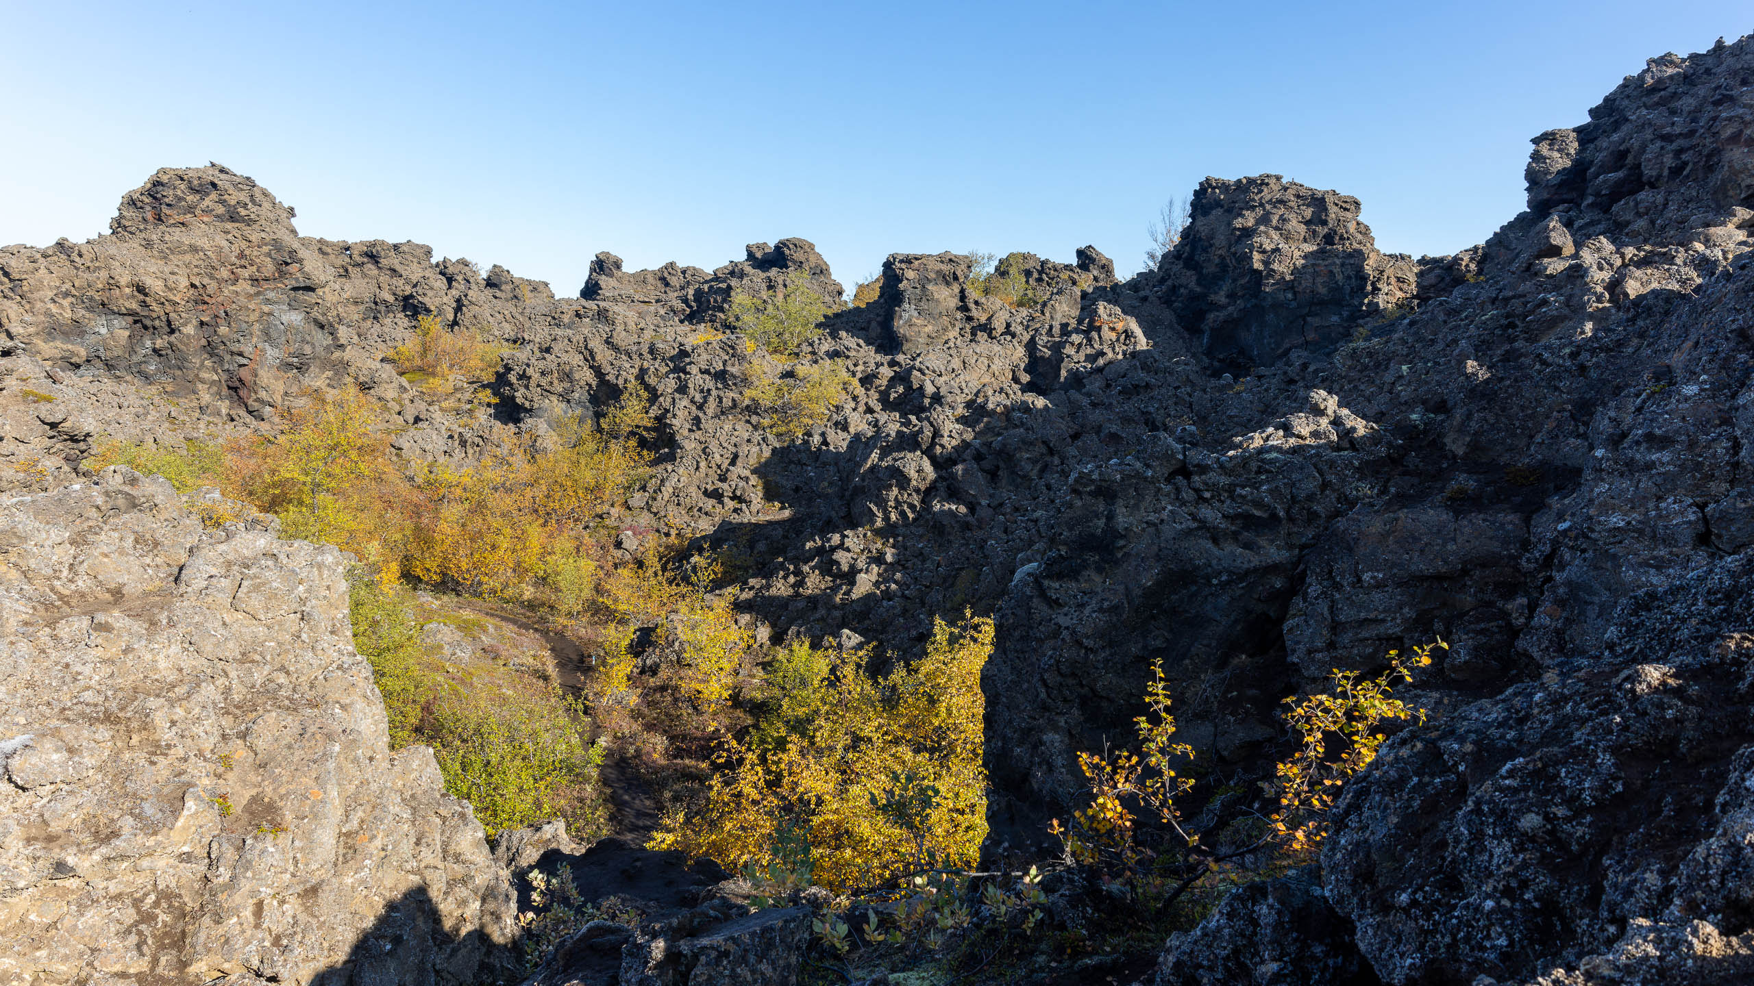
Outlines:
{"label": "dark shadowed lava boulder filling the bottom right corner", "polygon": [[1342,800],[1328,895],[1386,982],[1745,981],[1750,711],[1742,553],[1631,595],[1603,653],[1391,740]]}

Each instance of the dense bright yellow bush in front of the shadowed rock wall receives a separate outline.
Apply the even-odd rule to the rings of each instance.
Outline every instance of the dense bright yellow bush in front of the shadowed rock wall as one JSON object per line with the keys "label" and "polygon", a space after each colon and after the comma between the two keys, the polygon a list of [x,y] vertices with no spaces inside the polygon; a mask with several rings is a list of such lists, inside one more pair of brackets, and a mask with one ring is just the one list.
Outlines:
{"label": "dense bright yellow bush in front of the shadowed rock wall", "polygon": [[[788,725],[726,740],[705,805],[651,846],[724,867],[807,868],[830,890],[972,867],[986,839],[980,668],[993,621],[935,621],[926,653],[888,675],[835,653],[788,689]],[[807,653],[805,660],[809,660]],[[791,654],[793,663],[800,658]]]}

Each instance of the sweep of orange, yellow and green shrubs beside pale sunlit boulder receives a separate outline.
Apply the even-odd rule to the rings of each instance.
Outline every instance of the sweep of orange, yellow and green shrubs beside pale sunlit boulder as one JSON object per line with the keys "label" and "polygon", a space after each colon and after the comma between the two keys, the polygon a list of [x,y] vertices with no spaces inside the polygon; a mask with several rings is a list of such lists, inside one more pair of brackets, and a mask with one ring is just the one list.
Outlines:
{"label": "sweep of orange, yellow and green shrubs beside pale sunlit boulder", "polygon": [[631,565],[612,556],[616,528],[605,518],[649,461],[638,446],[649,426],[644,398],[630,391],[602,428],[560,419],[545,447],[507,437],[468,468],[400,461],[386,409],[351,388],[289,412],[274,437],[182,449],[109,442],[88,465],[156,472],[186,493],[217,486],[221,504],[274,514],[289,537],[353,553],[354,642],[384,693],[393,744],[430,744],[447,790],[468,798],[489,832],[567,818],[589,837],[605,828],[596,782],[605,746],[591,739],[603,723],[553,675],[438,661],[421,628],[444,614],[419,612],[405,584],[512,604],[596,644],[609,660],[588,698],[602,700],[609,725],[635,726],[626,684],[617,695],[614,677],[631,665],[626,642],[637,625],[656,625],[654,642],[675,651],[696,709],[723,704],[747,632],[730,597],[707,591],[712,572],[684,577],[668,546]]}

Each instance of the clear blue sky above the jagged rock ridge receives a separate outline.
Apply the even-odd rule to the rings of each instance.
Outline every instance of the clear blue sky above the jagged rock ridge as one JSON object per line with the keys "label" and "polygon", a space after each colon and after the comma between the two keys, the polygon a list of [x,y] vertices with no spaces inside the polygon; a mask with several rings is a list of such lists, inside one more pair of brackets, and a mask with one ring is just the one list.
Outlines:
{"label": "clear blue sky above the jagged rock ridge", "polygon": [[0,244],[107,228],[219,161],[330,239],[421,240],[570,295],[591,254],[717,267],[1086,242],[1140,267],[1203,175],[1365,202],[1452,253],[1528,139],[1749,0],[1473,4],[49,4],[0,0]]}

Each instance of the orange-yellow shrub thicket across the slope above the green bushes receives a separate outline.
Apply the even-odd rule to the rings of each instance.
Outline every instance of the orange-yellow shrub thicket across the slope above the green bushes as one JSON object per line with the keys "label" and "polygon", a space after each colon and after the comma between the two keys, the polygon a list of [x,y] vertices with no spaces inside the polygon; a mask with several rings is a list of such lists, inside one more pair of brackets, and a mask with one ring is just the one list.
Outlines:
{"label": "orange-yellow shrub thicket across the slope above the green bushes", "polygon": [[[603,605],[600,518],[651,461],[633,440],[570,416],[554,428],[553,447],[517,437],[467,468],[410,474],[377,423],[358,389],[317,397],[291,412],[279,437],[235,447],[226,486],[279,516],[286,533],[353,551],[386,586],[412,574],[482,597],[542,602],[565,616]],[[642,588],[663,588],[656,568],[652,579],[660,584]],[[647,604],[649,612],[663,600]],[[609,602],[616,616],[623,607]]]}

